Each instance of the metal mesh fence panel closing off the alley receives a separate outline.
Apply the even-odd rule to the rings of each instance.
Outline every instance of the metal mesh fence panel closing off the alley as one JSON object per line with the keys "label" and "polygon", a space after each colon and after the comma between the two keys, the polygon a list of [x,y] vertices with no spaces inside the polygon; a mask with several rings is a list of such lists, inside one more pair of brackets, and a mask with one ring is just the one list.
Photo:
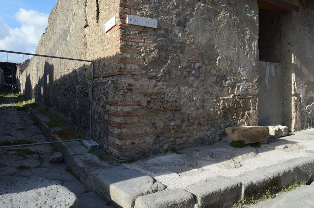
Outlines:
{"label": "metal mesh fence panel closing off the alley", "polygon": [[[69,113],[68,118],[73,119],[72,117],[79,114],[79,111],[84,111],[82,114],[88,115],[88,112],[85,112],[88,110],[89,118],[82,118],[82,120],[86,126],[88,125],[85,124],[86,121],[89,121],[87,127],[89,128],[88,139],[91,139],[94,60],[6,50],[0,50],[0,53],[0,89],[2,91],[24,94],[27,99],[32,99],[44,105],[47,104],[48,107],[51,105],[56,111],[61,112],[60,114],[65,118]],[[89,79],[91,79],[90,84],[87,81]],[[89,94],[88,89],[90,90]],[[71,101],[73,103],[70,104]],[[87,103],[89,103],[89,106],[87,106]],[[80,105],[84,107],[81,108]],[[74,118],[74,122],[75,119],[78,118]],[[80,122],[80,119],[77,122]],[[78,140],[87,139],[65,140],[62,142]],[[50,143],[57,142],[19,146]],[[0,148],[4,147],[9,146]]]}

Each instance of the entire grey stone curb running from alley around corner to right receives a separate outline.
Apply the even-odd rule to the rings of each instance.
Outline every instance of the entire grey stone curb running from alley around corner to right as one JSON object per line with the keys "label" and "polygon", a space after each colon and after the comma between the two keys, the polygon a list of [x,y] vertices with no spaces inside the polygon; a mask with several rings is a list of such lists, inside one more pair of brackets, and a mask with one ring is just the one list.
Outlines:
{"label": "entire grey stone curb running from alley around corner to right", "polygon": [[[50,141],[62,140],[42,121],[45,120],[45,116],[35,113],[33,109],[29,110]],[[71,170],[86,185],[89,191],[96,192],[104,199],[111,200],[114,206],[123,208],[188,208],[192,204],[190,194],[194,197],[194,207],[229,208],[244,197],[264,194],[272,186],[279,189],[292,183],[293,180],[306,181],[307,183],[314,180],[314,157],[303,157],[258,168],[255,171],[246,172],[233,178],[224,176],[209,178],[189,185],[186,190],[165,190],[165,185],[155,181],[148,175],[122,165],[114,167],[99,160],[96,155],[90,154],[79,142],[57,143],[55,145],[62,152],[65,164],[71,167]],[[86,161],[92,161],[92,165],[87,165]],[[138,174],[139,178],[148,176],[151,179],[148,180],[149,182],[144,185],[143,189],[133,189],[135,191],[132,194],[132,191],[130,192],[132,188],[124,191],[123,187],[120,186],[121,183],[112,179],[114,173],[117,173],[112,172],[115,169],[127,171],[124,174],[122,173],[122,177],[126,177],[122,184],[132,188],[134,188],[134,183],[130,178],[127,178],[128,173]],[[143,180],[138,182],[142,183]],[[177,200],[173,196],[176,196]]]}

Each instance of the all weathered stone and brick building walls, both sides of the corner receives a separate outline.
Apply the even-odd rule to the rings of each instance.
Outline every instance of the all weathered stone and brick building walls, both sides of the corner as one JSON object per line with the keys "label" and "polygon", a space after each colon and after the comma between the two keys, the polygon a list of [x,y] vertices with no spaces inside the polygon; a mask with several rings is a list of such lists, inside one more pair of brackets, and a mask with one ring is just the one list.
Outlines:
{"label": "all weathered stone and brick building walls, both sides of the corner", "polygon": [[[300,130],[313,120],[313,10],[290,3],[300,12],[280,16],[293,25],[280,33],[283,122]],[[258,124],[258,13],[252,0],[58,0],[36,53],[95,60],[93,139],[133,160]],[[157,19],[158,28],[127,24],[130,14]],[[24,94],[88,132],[90,63],[35,57],[19,76]]]}

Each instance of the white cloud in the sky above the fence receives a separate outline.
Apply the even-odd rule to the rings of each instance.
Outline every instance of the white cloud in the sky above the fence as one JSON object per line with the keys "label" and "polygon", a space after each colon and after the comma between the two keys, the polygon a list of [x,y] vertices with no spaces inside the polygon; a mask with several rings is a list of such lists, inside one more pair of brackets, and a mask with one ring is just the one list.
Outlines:
{"label": "white cloud in the sky above the fence", "polygon": [[0,17],[0,49],[34,53],[48,24],[48,14],[19,8],[15,13],[20,28],[10,28]]}

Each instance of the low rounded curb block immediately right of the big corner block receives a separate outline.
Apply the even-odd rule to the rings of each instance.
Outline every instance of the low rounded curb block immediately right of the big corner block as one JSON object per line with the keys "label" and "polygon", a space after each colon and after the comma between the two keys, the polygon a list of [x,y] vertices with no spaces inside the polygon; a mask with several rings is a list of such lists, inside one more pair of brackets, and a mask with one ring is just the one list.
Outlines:
{"label": "low rounded curb block immediately right of the big corner block", "polygon": [[135,200],[134,208],[193,208],[194,197],[183,189],[166,189]]}

